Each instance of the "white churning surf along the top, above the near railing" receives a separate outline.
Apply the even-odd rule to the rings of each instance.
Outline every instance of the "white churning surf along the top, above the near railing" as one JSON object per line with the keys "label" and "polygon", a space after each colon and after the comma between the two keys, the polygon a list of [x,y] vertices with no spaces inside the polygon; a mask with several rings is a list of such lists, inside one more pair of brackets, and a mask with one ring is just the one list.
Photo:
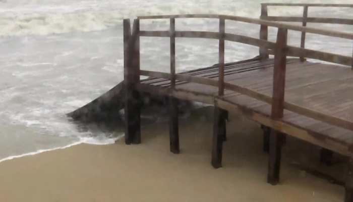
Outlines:
{"label": "white churning surf along the top, above the near railing", "polygon": [[[128,0],[107,0],[97,4],[94,0],[6,1],[1,3],[0,36],[97,31],[121,25],[123,18],[135,18],[141,15],[220,13],[257,18],[260,15],[260,3],[263,2],[209,0],[196,3],[189,0],[173,2],[151,0],[136,4]],[[315,2],[321,1],[311,1],[311,3]],[[346,1],[336,0],[330,3],[344,2]],[[271,8],[271,15],[291,15],[298,12],[300,12],[298,8]]]}

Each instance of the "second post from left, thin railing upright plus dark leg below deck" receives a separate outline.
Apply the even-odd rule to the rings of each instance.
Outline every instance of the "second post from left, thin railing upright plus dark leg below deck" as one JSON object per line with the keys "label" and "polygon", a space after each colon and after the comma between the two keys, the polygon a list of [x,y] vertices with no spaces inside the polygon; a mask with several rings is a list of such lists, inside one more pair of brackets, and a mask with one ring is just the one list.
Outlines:
{"label": "second post from left, thin railing upright plus dark leg below deck", "polygon": [[[175,89],[175,18],[170,18],[170,88]],[[178,128],[178,99],[169,96],[169,142],[170,151],[180,153]]]}

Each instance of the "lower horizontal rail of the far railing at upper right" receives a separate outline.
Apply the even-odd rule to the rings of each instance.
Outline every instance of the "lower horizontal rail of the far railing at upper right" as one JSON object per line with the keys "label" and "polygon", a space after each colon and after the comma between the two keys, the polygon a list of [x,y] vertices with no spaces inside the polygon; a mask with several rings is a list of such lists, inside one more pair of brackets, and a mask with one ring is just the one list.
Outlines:
{"label": "lower horizontal rail of the far railing at upper right", "polygon": [[[308,7],[306,7],[308,8]],[[303,22],[305,20],[304,17],[291,17],[291,16],[266,16],[263,20],[270,21],[280,21],[280,22]],[[345,25],[353,25],[352,19],[344,19],[344,18],[307,18],[307,22],[310,23],[327,23],[327,24],[345,24]]]}

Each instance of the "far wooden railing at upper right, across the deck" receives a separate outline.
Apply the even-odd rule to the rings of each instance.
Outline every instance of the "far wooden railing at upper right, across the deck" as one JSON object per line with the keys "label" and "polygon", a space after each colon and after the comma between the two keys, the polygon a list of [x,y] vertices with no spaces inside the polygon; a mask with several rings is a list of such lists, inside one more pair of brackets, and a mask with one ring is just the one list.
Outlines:
{"label": "far wooden railing at upper right, across the deck", "polygon": [[[274,6],[285,6],[285,7],[303,7],[303,17],[292,17],[292,16],[268,16],[268,7]],[[343,18],[313,18],[308,17],[309,7],[340,7],[340,8],[352,8],[351,4],[261,4],[261,16],[262,20],[269,21],[280,21],[280,22],[302,22],[304,27],[307,26],[307,23],[326,23],[326,24],[345,24],[345,25],[353,25],[353,19],[343,19]],[[267,25],[261,25],[260,28],[260,38],[263,40],[267,40],[268,29]],[[305,38],[306,32],[302,31],[301,36],[301,48],[305,48]],[[262,58],[268,58],[268,52],[266,48],[260,48],[260,56]],[[291,55],[291,53],[288,53]],[[304,61],[305,58],[303,56],[300,57],[301,61]],[[353,65],[352,65],[353,68]]]}

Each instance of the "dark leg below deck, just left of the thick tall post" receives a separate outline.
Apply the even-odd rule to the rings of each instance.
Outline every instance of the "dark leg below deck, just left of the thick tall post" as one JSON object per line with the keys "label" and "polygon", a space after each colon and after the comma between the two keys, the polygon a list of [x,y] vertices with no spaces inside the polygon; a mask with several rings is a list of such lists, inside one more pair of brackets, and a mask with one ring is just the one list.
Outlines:
{"label": "dark leg below deck, just left of the thick tall post", "polygon": [[214,168],[222,167],[222,109],[214,107],[213,114],[213,140],[212,140],[212,161],[211,164]]}

